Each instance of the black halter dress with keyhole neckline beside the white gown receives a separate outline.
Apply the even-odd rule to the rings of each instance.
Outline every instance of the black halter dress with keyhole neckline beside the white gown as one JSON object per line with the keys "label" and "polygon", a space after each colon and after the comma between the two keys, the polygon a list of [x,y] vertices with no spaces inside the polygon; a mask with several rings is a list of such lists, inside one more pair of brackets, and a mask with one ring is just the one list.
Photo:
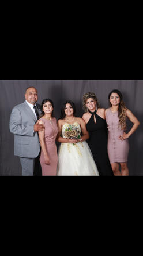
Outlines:
{"label": "black halter dress with keyhole neckline beside the white gown", "polygon": [[[88,145],[93,154],[93,158],[97,165],[100,176],[114,176],[107,152],[107,124],[106,120],[96,114],[92,113],[90,120],[86,124],[86,129],[89,132]],[[96,117],[96,124],[94,121]]]}

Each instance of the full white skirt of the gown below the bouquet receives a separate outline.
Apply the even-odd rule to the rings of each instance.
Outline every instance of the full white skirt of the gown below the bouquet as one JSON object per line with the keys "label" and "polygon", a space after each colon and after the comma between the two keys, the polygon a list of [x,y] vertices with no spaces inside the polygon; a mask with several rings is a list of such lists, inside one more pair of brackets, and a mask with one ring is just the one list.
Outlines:
{"label": "full white skirt of the gown below the bouquet", "polygon": [[99,176],[86,141],[61,143],[58,149],[58,176]]}

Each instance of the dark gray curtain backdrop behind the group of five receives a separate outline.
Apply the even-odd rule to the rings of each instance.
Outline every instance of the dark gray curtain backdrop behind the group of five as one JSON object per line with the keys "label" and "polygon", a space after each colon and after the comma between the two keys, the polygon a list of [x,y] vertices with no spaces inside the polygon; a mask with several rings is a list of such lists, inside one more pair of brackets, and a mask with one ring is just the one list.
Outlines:
{"label": "dark gray curtain backdrop behind the group of five", "polygon": [[[129,138],[130,175],[143,175],[143,80],[0,80],[0,175],[21,175],[18,157],[13,155],[14,135],[9,132],[12,108],[24,102],[28,86],[35,86],[41,103],[51,98],[55,104],[55,117],[59,118],[62,103],[69,99],[76,104],[78,116],[82,116],[82,95],[95,92],[101,107],[108,107],[108,93],[119,89],[126,106],[133,111],[141,125]],[[127,125],[131,128],[131,123]]]}

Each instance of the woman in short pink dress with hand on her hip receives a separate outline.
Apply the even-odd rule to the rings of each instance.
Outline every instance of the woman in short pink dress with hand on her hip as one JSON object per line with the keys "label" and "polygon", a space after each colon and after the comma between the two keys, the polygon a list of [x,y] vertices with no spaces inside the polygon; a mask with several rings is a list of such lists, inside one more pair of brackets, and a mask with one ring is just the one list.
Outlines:
{"label": "woman in short pink dress with hand on her hip", "polygon": [[[140,122],[125,106],[122,93],[112,90],[108,96],[110,108],[106,109],[106,122],[108,125],[108,156],[115,176],[129,176],[127,158],[129,154],[129,141]],[[126,118],[133,122],[133,127],[126,133]],[[121,165],[121,172],[119,171]]]}

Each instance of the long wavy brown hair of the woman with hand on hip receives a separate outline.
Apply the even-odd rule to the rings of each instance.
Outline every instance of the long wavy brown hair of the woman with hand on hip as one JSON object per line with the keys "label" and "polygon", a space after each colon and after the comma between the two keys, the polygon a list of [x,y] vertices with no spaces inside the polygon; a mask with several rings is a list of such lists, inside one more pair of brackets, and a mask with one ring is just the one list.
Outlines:
{"label": "long wavy brown hair of the woman with hand on hip", "polygon": [[[108,95],[108,99],[109,99],[109,103],[110,103],[110,97],[112,95],[112,93],[117,93],[119,95],[120,98],[120,103],[119,103],[119,124],[121,126],[122,130],[126,130],[127,129],[127,125],[126,125],[126,111],[127,111],[127,107],[125,106],[125,103],[123,102],[123,96],[122,93],[119,90],[112,90],[109,95]],[[110,103],[110,107],[112,106],[112,104]]]}

